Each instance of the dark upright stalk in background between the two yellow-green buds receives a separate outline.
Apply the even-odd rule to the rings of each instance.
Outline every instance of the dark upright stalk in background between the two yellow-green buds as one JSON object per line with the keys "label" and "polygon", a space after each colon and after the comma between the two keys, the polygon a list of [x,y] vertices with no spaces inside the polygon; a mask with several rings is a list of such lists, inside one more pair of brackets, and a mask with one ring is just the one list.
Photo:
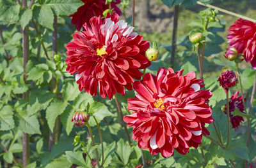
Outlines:
{"label": "dark upright stalk in background between the two yellow-green buds", "polygon": [[175,61],[175,50],[176,50],[176,40],[177,40],[179,7],[180,7],[179,4],[175,6],[174,15],[173,15],[172,53],[171,53],[171,62],[170,62],[172,66],[174,65],[174,61]]}

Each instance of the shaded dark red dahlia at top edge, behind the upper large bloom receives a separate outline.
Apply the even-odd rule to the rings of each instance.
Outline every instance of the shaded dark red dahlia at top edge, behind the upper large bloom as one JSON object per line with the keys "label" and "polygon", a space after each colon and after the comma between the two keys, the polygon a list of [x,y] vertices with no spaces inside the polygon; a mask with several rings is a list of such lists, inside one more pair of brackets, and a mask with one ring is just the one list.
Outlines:
{"label": "shaded dark red dahlia at top edge, behind the upper large bloom", "polygon": [[[77,31],[81,30],[81,27],[84,23],[89,25],[90,18],[92,17],[103,17],[102,13],[104,10],[109,8],[109,4],[106,4],[105,0],[81,0],[84,5],[78,8],[76,13],[70,15],[72,17],[71,24],[76,25]],[[120,0],[116,0],[115,2],[111,2],[111,8],[118,15],[122,15],[120,9],[116,6],[116,4],[121,3]]]}

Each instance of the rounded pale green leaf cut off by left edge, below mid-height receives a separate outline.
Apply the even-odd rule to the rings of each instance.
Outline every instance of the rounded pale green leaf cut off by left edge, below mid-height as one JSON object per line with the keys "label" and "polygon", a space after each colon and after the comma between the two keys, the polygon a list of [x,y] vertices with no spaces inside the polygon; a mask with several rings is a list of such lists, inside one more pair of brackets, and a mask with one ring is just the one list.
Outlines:
{"label": "rounded pale green leaf cut off by left edge, below mid-height", "polygon": [[[2,86],[1,86],[2,87]],[[10,130],[14,127],[13,111],[10,106],[0,109],[0,130]]]}

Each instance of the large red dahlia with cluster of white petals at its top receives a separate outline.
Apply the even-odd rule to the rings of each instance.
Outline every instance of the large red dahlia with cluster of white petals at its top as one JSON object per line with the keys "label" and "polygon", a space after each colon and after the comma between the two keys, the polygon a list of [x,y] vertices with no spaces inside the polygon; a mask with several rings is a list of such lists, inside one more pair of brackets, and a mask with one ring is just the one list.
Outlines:
{"label": "large red dahlia with cluster of white petals at its top", "polygon": [[145,57],[148,41],[118,18],[116,13],[108,14],[103,23],[100,17],[91,18],[92,28],[84,24],[85,31],[76,32],[67,44],[67,72],[76,73],[79,90],[96,95],[99,86],[103,98],[112,99],[116,92],[124,95],[124,87],[132,90],[134,79],[143,75],[139,69],[150,66]]}

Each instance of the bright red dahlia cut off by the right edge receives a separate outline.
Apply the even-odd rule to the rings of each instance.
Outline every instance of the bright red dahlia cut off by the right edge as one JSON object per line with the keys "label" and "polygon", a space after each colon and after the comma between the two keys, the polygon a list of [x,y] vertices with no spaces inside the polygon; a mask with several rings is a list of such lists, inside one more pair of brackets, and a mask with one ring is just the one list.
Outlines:
{"label": "bright red dahlia cut off by the right edge", "polygon": [[244,60],[256,70],[256,23],[240,18],[228,29],[229,47],[243,53]]}

